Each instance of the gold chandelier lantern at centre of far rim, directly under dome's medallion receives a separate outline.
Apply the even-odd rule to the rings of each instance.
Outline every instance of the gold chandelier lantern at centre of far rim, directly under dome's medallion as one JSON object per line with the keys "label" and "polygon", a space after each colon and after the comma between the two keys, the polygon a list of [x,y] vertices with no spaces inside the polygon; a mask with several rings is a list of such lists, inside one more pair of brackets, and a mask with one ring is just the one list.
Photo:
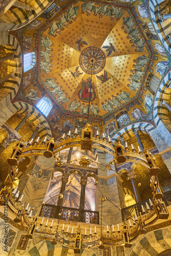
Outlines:
{"label": "gold chandelier lantern at centre of far rim, directly under dome's medallion", "polygon": [[87,123],[82,130],[81,150],[92,150],[92,138],[93,131],[91,130],[91,125]]}

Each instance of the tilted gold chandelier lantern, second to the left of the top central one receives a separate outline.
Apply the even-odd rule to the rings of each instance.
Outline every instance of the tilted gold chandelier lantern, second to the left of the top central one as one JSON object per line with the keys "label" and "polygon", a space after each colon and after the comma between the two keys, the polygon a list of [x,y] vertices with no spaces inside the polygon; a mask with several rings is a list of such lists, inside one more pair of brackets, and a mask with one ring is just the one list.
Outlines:
{"label": "tilted gold chandelier lantern, second to the left of the top central one", "polygon": [[12,165],[17,166],[18,165],[17,158],[19,157],[20,152],[25,147],[24,142],[25,142],[25,139],[20,138],[19,141],[16,143],[16,145],[13,147],[12,155],[11,155],[11,157],[9,157],[7,159],[7,162],[10,166],[12,166]]}

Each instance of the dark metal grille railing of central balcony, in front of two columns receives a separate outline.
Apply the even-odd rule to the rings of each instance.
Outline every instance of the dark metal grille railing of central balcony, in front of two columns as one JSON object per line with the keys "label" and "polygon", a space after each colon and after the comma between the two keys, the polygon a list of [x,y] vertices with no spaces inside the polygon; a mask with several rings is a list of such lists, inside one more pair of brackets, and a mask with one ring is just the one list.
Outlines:
{"label": "dark metal grille railing of central balcony, in front of two columns", "polygon": [[[45,204],[42,205],[40,210],[41,217],[58,219],[60,206]],[[80,218],[83,216],[83,218]],[[84,223],[99,224],[99,212],[91,210],[79,210],[70,207],[62,207],[61,220],[81,221]]]}

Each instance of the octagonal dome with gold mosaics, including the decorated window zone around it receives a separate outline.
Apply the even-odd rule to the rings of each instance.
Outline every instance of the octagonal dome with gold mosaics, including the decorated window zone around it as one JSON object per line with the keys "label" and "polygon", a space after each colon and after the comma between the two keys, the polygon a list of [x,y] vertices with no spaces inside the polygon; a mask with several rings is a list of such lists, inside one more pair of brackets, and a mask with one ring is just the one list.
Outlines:
{"label": "octagonal dome with gold mosaics, including the decorated window zone around it", "polygon": [[89,97],[93,135],[98,130],[113,136],[142,120],[155,125],[154,98],[170,57],[140,0],[55,1],[14,33],[24,56],[34,52],[34,63],[24,70],[13,102],[37,108],[42,97],[49,98],[45,118],[55,139],[75,127],[81,132]]}

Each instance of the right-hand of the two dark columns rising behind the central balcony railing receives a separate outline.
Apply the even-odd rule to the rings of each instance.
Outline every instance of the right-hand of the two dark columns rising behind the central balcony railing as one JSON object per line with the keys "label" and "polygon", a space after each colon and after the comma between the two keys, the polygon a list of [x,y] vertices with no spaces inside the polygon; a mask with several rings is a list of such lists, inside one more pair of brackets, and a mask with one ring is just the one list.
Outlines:
{"label": "right-hand of the two dark columns rising behind the central balcony railing", "polygon": [[80,202],[79,202],[79,221],[83,222],[84,218],[84,205],[85,205],[85,196],[86,196],[86,185],[87,185],[87,177],[81,176],[81,194],[80,194]]}

